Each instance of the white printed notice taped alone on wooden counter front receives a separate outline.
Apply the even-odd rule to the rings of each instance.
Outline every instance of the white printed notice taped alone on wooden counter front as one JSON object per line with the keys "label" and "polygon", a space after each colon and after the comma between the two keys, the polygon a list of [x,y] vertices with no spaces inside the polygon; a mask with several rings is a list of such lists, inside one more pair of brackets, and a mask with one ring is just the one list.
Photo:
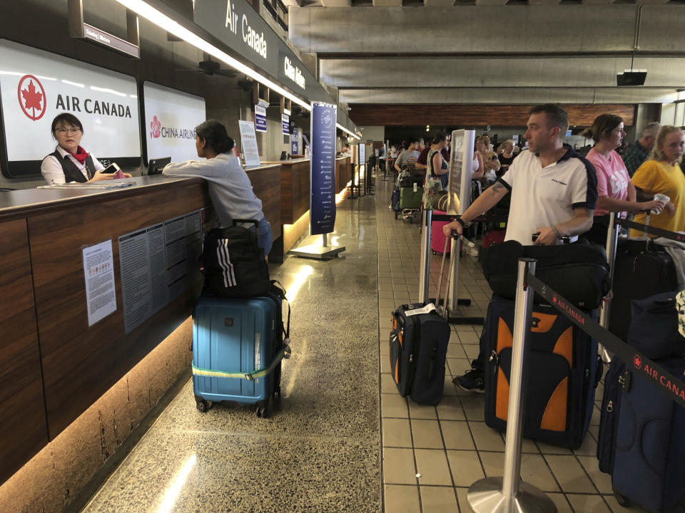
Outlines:
{"label": "white printed notice taped alone on wooden counter front", "polygon": [[112,241],[83,248],[83,274],[86,275],[88,326],[116,311]]}

